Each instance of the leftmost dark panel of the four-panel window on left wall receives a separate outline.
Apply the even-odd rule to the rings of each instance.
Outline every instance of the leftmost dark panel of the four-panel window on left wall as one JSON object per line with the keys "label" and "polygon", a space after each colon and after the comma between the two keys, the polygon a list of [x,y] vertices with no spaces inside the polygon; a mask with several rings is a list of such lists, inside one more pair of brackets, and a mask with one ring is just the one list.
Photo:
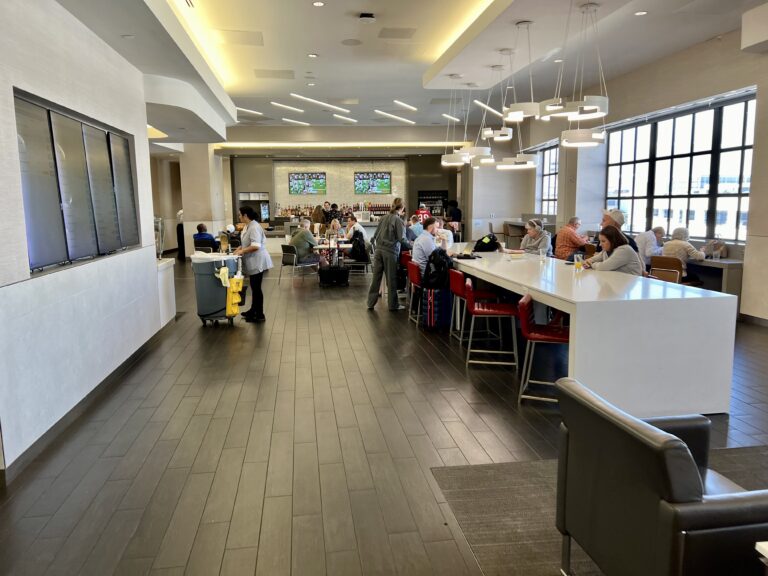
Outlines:
{"label": "leftmost dark panel of the four-panel window on left wall", "polygon": [[56,182],[48,111],[19,98],[16,130],[30,269],[67,260],[67,242]]}

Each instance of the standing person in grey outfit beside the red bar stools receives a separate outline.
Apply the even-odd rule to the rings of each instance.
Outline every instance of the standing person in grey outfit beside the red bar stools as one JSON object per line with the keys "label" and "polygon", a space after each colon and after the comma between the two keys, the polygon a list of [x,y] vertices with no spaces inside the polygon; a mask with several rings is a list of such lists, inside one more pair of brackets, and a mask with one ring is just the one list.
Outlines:
{"label": "standing person in grey outfit beside the red bar stools", "polygon": [[400,245],[408,246],[402,218],[404,208],[402,198],[395,198],[389,214],[379,221],[373,235],[376,250],[373,253],[373,279],[368,290],[368,310],[373,310],[379,299],[382,277],[387,281],[390,311],[405,309],[405,306],[400,306],[397,300],[397,265],[400,258]]}

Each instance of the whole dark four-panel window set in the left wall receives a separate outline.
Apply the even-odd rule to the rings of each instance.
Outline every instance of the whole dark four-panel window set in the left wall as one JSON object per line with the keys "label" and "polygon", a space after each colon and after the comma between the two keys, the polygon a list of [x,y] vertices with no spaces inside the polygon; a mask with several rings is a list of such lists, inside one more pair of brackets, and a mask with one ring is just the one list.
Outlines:
{"label": "whole dark four-panel window set in the left wall", "polygon": [[127,138],[15,98],[29,267],[139,244]]}

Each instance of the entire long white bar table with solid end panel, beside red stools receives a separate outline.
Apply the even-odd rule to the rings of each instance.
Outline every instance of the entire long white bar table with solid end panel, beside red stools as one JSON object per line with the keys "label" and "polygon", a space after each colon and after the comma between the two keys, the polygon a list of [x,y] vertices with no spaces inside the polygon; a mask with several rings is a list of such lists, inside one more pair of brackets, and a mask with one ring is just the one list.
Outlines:
{"label": "entire long white bar table with solid end panel, beside red stools", "polygon": [[484,253],[465,274],[570,314],[568,376],[638,417],[730,409],[737,298],[561,260]]}

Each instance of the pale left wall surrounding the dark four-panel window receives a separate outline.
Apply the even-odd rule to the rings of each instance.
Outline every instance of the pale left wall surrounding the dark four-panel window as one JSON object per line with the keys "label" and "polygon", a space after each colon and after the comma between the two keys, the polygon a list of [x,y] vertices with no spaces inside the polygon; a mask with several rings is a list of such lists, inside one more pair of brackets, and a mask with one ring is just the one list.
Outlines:
{"label": "pale left wall surrounding the dark four-panel window", "polygon": [[[141,248],[30,278],[13,87],[135,136]],[[160,325],[142,75],[53,0],[0,2],[0,214],[11,464]]]}

